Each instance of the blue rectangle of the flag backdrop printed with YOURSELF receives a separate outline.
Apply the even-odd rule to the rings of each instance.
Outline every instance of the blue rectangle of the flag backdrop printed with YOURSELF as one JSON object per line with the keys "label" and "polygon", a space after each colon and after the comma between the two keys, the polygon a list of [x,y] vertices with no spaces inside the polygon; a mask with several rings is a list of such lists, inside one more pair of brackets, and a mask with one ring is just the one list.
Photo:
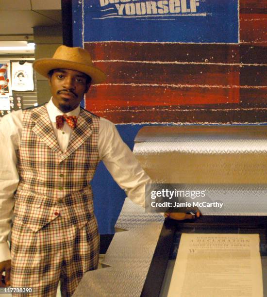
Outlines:
{"label": "blue rectangle of the flag backdrop printed with YOURSELF", "polygon": [[238,0],[83,0],[80,6],[84,41],[238,43]]}

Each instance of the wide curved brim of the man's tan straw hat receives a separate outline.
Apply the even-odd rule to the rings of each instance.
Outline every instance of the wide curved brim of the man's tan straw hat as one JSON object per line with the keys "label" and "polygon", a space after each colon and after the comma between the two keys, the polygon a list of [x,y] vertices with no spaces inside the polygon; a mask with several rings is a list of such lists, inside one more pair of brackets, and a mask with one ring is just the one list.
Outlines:
{"label": "wide curved brim of the man's tan straw hat", "polygon": [[36,60],[33,63],[33,69],[46,78],[49,78],[48,73],[52,69],[70,69],[89,75],[92,78],[92,84],[104,82],[106,79],[105,73],[99,68],[60,59],[45,58]]}

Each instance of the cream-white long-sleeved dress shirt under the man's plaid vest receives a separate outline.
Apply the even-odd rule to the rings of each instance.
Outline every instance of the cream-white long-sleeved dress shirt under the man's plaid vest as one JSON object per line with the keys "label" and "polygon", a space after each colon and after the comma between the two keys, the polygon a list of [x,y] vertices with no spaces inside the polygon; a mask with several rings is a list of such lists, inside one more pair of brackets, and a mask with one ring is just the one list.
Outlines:
{"label": "cream-white long-sleeved dress shirt under the man's plaid vest", "polygon": [[[56,129],[56,116],[63,113],[53,104],[46,104],[48,115],[57,137],[59,146],[64,152],[67,149],[72,129],[64,122],[62,130]],[[67,115],[78,116],[80,106]],[[7,244],[11,230],[11,219],[14,207],[14,192],[17,189],[19,175],[17,172],[17,149],[22,132],[22,110],[5,115],[0,121],[0,262],[10,259]],[[136,161],[132,151],[120,138],[113,123],[100,117],[98,149],[100,160],[104,162],[118,185],[134,203],[145,206],[145,183],[150,178]]]}

